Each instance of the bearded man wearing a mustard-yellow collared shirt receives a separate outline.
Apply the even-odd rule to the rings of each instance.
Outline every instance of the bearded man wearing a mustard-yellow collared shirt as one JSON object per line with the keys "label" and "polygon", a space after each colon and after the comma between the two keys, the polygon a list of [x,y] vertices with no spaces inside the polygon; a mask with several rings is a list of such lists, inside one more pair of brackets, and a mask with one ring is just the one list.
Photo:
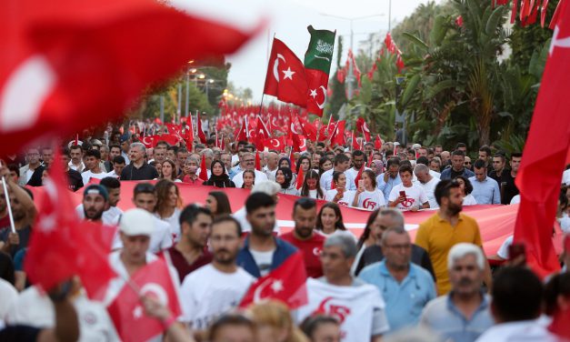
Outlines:
{"label": "bearded man wearing a mustard-yellow collared shirt", "polygon": [[[439,296],[451,290],[447,274],[447,255],[458,243],[465,242],[483,249],[479,226],[473,217],[461,213],[463,197],[459,183],[445,179],[435,186],[435,200],[439,210],[418,228],[415,244],[427,251],[435,269]],[[485,284],[491,287],[491,270],[485,261]]]}

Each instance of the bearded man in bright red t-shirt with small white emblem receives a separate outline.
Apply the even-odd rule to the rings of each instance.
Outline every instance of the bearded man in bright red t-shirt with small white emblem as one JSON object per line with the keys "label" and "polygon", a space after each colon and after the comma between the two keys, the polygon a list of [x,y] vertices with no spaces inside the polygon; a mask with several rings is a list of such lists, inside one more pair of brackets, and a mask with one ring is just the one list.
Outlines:
{"label": "bearded man in bright red t-shirt with small white emblem", "polygon": [[308,277],[323,277],[320,254],[325,243],[325,236],[315,233],[315,199],[308,197],[297,199],[293,206],[293,220],[295,229],[282,235],[281,238],[303,251]]}

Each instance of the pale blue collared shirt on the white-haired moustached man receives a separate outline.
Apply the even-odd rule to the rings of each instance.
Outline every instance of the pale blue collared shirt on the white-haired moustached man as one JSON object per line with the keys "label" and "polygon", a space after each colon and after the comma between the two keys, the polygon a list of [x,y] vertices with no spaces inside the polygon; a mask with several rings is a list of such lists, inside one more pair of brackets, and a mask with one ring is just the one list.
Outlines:
{"label": "pale blue collared shirt on the white-haired moustached man", "polygon": [[481,295],[483,300],[471,319],[455,307],[451,299],[453,293],[450,293],[427,303],[420,324],[437,332],[445,341],[473,342],[495,324],[489,309],[490,297]]}

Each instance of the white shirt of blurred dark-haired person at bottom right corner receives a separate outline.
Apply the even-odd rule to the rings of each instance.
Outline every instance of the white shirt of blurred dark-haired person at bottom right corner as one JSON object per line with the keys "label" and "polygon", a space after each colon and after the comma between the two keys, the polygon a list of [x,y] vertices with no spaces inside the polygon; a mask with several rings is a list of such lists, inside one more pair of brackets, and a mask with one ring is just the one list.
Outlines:
{"label": "white shirt of blurred dark-haired person at bottom right corner", "polygon": [[497,324],[490,327],[475,342],[525,342],[541,341],[555,342],[559,339],[551,334],[545,326],[537,320],[525,320]]}

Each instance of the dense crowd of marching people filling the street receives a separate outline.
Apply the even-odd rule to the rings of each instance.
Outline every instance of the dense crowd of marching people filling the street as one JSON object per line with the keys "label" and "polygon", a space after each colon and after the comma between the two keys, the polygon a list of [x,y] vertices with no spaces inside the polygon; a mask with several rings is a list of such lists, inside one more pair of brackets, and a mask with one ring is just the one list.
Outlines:
{"label": "dense crowd of marching people filling the street", "polygon": [[[119,340],[105,306],[125,279],[164,256],[171,260],[182,315],[173,317],[164,303],[141,297],[145,315],[164,324],[156,340],[555,341],[561,317],[570,315],[570,237],[560,256],[563,271],[545,283],[525,267],[524,257],[508,255],[512,237],[497,253],[505,265],[494,274],[477,222],[462,212],[464,206],[519,201],[520,153],[481,146],[471,159],[475,152],[461,143],[450,152],[391,142],[359,150],[308,140],[303,153],[257,151],[247,141],[222,149],[215,138],[146,148],[140,139],[113,129],[100,136],[86,132],[61,151],[29,147],[24,156],[3,161],[8,194],[0,186],[0,340]],[[53,163],[64,166],[70,191],[83,194],[79,206],[62,210],[75,210],[102,229],[118,226],[109,262],[121,277],[103,302],[86,297],[76,278],[46,296],[25,275],[37,216],[29,187],[42,186]],[[557,208],[565,232],[569,178],[566,171]],[[131,180],[138,181],[132,197],[122,198],[122,181]],[[204,204],[185,203],[179,184],[212,189]],[[243,207],[231,207],[226,187],[250,190]],[[282,194],[298,196],[295,227],[285,234],[275,219]],[[128,200],[135,208],[123,212],[118,204]],[[370,211],[361,236],[345,227],[340,206]],[[433,215],[413,240],[402,212],[418,210]],[[262,300],[238,309],[258,278],[297,252],[308,277],[301,307]]]}

